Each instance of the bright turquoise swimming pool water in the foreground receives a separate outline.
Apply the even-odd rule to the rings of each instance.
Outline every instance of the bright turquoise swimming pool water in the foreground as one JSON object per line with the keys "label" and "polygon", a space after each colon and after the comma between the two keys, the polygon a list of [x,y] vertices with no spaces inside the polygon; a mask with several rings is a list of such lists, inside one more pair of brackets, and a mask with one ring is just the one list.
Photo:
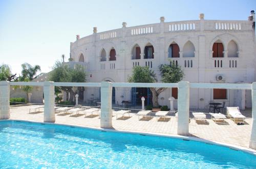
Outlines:
{"label": "bright turquoise swimming pool water in the foreground", "polygon": [[256,156],[191,140],[2,121],[0,168],[256,168]]}

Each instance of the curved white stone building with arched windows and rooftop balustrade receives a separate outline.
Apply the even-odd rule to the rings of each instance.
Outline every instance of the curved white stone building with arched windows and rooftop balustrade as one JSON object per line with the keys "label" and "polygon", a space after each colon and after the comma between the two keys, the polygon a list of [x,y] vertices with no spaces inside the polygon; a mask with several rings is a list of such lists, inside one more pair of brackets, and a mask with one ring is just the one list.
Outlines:
{"label": "curved white stone building with arched windows and rooftop balustrade", "polygon": [[[251,83],[255,72],[255,13],[248,20],[199,20],[164,22],[126,27],[79,38],[70,44],[71,64],[83,64],[87,81],[127,82],[134,66],[149,66],[157,74],[161,64],[178,64],[184,70],[183,81]],[[147,89],[115,89],[115,103],[128,100],[139,104],[147,97]],[[177,98],[176,89],[159,96],[160,105],[169,105],[168,98]],[[87,88],[84,100],[100,98],[98,88]],[[204,108],[209,101],[225,102],[226,106],[251,107],[251,92],[225,89],[191,89],[190,108]],[[175,100],[177,108],[177,99]]]}

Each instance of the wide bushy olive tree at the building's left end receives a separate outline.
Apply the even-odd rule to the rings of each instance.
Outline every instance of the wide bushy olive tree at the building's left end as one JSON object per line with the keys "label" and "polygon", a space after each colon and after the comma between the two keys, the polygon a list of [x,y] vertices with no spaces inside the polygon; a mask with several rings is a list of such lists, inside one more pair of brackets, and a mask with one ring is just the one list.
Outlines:
{"label": "wide bushy olive tree at the building's left end", "polygon": [[[53,66],[49,79],[55,82],[86,82],[86,72],[81,65],[71,68],[69,65],[57,61]],[[60,87],[62,91],[70,93],[69,101],[72,102],[75,92],[73,87]]]}

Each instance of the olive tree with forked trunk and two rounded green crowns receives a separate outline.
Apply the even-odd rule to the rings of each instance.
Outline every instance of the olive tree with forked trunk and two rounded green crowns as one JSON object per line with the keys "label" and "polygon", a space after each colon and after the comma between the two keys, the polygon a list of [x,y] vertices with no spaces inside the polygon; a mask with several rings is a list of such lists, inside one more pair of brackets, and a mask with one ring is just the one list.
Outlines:
{"label": "olive tree with forked trunk and two rounded green crowns", "polygon": [[[180,66],[160,65],[159,71],[161,81],[164,83],[176,83],[182,80],[184,72]],[[132,75],[128,78],[129,82],[157,82],[156,74],[149,67],[136,66],[133,68]],[[150,88],[152,92],[153,107],[159,107],[158,96],[167,88]]]}

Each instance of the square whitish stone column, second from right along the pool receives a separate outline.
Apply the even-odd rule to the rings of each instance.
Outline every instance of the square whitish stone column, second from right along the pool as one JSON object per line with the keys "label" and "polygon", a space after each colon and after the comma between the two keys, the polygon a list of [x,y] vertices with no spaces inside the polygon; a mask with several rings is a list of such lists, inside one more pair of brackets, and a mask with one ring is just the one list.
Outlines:
{"label": "square whitish stone column, second from right along the pool", "polygon": [[189,82],[178,83],[178,130],[179,135],[188,135],[189,123]]}

